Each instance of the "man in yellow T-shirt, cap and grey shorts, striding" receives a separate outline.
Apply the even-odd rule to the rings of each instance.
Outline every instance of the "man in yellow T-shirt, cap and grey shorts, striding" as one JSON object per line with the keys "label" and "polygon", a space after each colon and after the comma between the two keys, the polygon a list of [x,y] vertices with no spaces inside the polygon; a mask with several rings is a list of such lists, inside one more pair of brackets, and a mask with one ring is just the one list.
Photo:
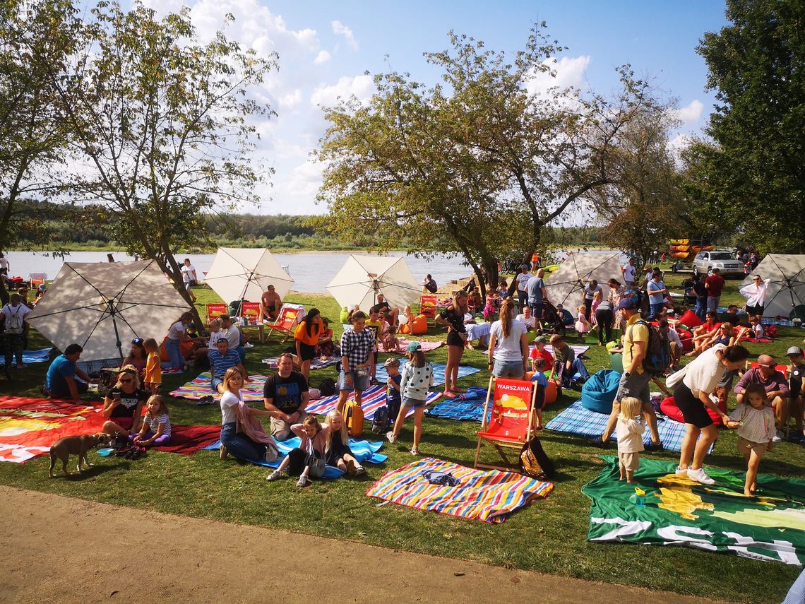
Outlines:
{"label": "man in yellow T-shirt, cap and grey shorts, striding", "polygon": [[651,432],[651,445],[646,450],[657,451],[663,449],[657,432],[657,415],[651,406],[649,383],[654,377],[643,365],[646,354],[649,352],[649,343],[653,329],[646,321],[640,318],[640,306],[634,296],[621,300],[616,310],[623,313],[626,319],[626,329],[623,334],[623,374],[618,384],[615,400],[612,403],[612,412],[609,414],[606,428],[601,436],[591,441],[592,445],[609,446],[609,437],[615,431],[617,415],[621,412],[621,400],[626,396],[640,399],[643,412],[648,420]]}

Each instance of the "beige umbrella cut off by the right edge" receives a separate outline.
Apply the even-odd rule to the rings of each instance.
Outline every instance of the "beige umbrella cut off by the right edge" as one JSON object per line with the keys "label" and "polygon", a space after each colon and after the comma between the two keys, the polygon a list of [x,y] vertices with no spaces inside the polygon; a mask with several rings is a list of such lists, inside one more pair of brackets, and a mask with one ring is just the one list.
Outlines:
{"label": "beige umbrella cut off by the right edge", "polygon": [[805,319],[805,254],[766,255],[740,287],[750,285],[753,275],[771,279],[763,316]]}

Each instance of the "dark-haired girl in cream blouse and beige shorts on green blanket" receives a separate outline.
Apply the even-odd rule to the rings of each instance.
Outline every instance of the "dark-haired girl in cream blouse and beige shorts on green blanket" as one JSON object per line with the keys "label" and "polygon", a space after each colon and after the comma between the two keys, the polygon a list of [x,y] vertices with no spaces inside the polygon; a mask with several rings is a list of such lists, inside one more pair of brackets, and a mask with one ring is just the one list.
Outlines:
{"label": "dark-haired girl in cream blouse and beige shorts on green blanket", "polygon": [[760,460],[763,453],[774,447],[772,439],[777,434],[774,409],[769,405],[766,389],[761,384],[749,384],[744,402],[735,407],[729,419],[727,428],[738,428],[738,451],[747,462],[744,494],[753,497],[758,490]]}

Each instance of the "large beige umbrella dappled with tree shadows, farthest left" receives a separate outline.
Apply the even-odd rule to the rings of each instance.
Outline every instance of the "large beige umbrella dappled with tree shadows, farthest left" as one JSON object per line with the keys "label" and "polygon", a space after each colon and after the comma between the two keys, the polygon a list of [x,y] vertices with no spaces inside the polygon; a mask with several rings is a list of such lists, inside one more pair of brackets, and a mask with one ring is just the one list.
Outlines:
{"label": "large beige umbrella dappled with tree shadows, farthest left", "polygon": [[84,348],[81,360],[124,358],[134,337],[161,341],[188,303],[153,260],[64,263],[26,320],[61,350]]}

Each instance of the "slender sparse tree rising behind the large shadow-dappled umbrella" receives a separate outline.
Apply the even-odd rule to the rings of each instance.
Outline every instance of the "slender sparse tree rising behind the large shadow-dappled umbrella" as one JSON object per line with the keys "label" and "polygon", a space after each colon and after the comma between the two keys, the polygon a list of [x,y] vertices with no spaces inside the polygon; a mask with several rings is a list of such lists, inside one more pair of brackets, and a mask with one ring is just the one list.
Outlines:
{"label": "slender sparse tree rising behind the large shadow-dappled umbrella", "polygon": [[102,201],[128,251],[154,259],[190,301],[172,250],[196,242],[204,213],[257,201],[268,172],[250,161],[255,120],[273,115],[250,97],[275,67],[219,32],[200,43],[187,8],[155,19],[101,2],[61,96],[81,169],[74,190]]}

